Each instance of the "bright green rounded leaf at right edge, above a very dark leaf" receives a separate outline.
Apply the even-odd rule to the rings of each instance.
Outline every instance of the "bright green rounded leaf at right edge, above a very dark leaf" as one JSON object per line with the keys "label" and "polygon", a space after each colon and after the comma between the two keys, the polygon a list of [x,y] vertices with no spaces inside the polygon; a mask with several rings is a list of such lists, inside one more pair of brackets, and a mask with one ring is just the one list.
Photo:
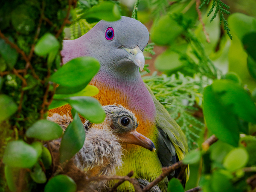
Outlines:
{"label": "bright green rounded leaf at right edge, above a very dark leaf", "polygon": [[234,13],[228,17],[230,29],[236,33],[240,40],[250,32],[256,32],[256,18],[243,13]]}

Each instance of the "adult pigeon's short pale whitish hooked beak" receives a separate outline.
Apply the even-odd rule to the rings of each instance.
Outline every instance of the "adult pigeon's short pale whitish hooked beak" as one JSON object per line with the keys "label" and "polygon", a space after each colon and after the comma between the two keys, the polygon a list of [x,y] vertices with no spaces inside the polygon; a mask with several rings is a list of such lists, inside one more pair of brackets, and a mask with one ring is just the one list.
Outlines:
{"label": "adult pigeon's short pale whitish hooked beak", "polygon": [[145,65],[145,58],[139,46],[136,46],[133,49],[123,47],[123,49],[125,49],[125,51],[128,53],[129,59],[140,67],[140,71],[142,71]]}

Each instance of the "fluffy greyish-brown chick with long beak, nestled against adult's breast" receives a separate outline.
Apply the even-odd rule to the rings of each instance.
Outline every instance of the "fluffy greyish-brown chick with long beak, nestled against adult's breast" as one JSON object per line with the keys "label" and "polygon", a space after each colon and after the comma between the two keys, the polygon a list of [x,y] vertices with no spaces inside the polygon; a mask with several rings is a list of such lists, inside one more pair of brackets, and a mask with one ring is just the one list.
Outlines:
{"label": "fluffy greyish-brown chick with long beak, nestled against adult's breast", "polygon": [[[138,123],[131,111],[121,105],[106,105],[102,108],[106,113],[104,122],[91,124],[87,121],[84,123],[86,131],[84,145],[72,159],[73,164],[84,171],[87,177],[113,175],[116,167],[122,166],[122,143],[140,145],[150,151],[155,151],[154,143],[136,131]],[[61,125],[63,129],[72,122],[69,116],[60,116],[57,113],[48,119]],[[53,151],[58,151],[60,141],[51,142]],[[74,167],[63,170],[70,172],[73,169]],[[65,174],[64,172],[61,174]]]}

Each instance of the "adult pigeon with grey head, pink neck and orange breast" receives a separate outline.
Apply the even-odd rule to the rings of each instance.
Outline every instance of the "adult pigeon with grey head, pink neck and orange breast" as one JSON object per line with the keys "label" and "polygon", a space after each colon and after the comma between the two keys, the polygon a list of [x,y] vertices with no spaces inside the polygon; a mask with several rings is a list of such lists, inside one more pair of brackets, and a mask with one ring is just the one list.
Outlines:
{"label": "adult pigeon with grey head, pink neck and orange breast", "polygon": [[[116,174],[126,175],[133,170],[135,177],[151,182],[162,173],[162,166],[170,166],[183,159],[188,145],[179,125],[140,76],[139,68],[142,70],[145,63],[143,50],[148,39],[147,28],[138,20],[130,17],[122,17],[115,22],[101,20],[80,38],[64,41],[61,55],[64,63],[84,55],[100,62],[100,70],[90,82],[99,88],[94,97],[102,105],[116,103],[131,110],[139,122],[137,131],[151,139],[157,148],[157,153],[151,153],[126,144],[124,163]],[[50,112],[63,114],[70,110],[69,105],[64,105]],[[168,179],[177,177],[178,173],[179,170],[172,172],[159,183],[160,188],[166,191]],[[187,178],[188,170],[183,185]],[[121,185],[120,189],[133,191],[129,183]]]}

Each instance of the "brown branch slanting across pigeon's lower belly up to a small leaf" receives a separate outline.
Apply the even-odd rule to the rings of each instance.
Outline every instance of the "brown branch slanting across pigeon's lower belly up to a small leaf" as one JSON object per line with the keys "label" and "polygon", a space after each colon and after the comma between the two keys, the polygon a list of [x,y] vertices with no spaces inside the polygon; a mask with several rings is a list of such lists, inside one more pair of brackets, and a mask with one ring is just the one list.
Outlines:
{"label": "brown branch slanting across pigeon's lower belly up to a small leaf", "polygon": [[148,191],[151,189],[153,186],[157,185],[161,180],[163,180],[169,173],[173,172],[175,169],[178,169],[180,166],[183,166],[182,161],[178,161],[177,163],[173,164],[172,166],[169,167],[163,167],[162,171],[163,173],[157,177],[155,180],[153,180],[151,183],[149,183],[145,188],[143,189],[143,192]]}

